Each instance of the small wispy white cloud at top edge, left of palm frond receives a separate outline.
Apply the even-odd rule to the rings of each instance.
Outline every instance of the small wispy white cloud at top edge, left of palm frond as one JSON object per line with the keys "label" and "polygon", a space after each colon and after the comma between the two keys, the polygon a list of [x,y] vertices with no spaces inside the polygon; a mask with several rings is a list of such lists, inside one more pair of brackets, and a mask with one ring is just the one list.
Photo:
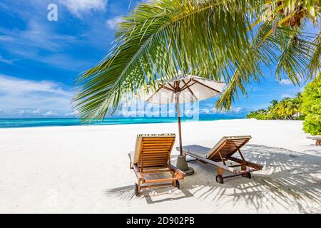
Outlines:
{"label": "small wispy white cloud at top edge, left of palm frond", "polygon": [[105,11],[107,0],[60,0],[71,14],[80,18],[89,11]]}

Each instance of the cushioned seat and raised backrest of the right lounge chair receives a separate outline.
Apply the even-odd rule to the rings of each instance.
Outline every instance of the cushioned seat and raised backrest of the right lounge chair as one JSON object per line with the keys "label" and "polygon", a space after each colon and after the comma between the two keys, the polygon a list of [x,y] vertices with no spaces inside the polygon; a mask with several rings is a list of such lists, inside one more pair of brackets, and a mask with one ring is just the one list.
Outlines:
{"label": "cushioned seat and raised backrest of the right lounge chair", "polygon": [[210,160],[220,160],[220,155],[218,155],[218,150],[220,151],[222,157],[230,157],[235,152],[243,147],[248,140],[252,137],[250,135],[246,136],[225,136],[216,145],[210,149],[209,147],[202,147],[200,145],[188,145],[183,146],[183,151],[190,153],[191,155],[198,155]]}

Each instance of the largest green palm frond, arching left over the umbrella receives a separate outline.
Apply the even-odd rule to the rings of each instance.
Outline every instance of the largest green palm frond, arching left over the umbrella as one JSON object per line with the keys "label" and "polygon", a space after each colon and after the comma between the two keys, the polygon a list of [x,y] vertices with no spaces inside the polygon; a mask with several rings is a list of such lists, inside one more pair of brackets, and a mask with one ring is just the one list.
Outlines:
{"label": "largest green palm frond, arching left over the umbrella", "polygon": [[[228,80],[235,68],[253,71],[247,15],[263,1],[156,0],[123,19],[116,46],[103,61],[78,77],[73,102],[81,118],[103,118],[121,105],[123,94],[178,70]],[[228,26],[227,26],[228,25]]]}

